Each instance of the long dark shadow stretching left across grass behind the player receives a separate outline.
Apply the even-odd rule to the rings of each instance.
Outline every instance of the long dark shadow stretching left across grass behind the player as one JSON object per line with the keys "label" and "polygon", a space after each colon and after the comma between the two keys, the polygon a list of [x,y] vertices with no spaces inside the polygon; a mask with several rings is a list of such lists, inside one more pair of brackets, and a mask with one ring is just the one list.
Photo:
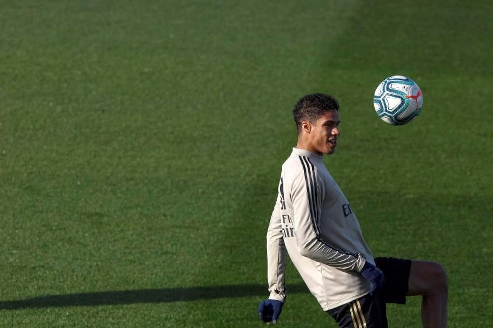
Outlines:
{"label": "long dark shadow stretching left across grass behind the player", "polygon": [[[307,293],[304,284],[289,285],[288,293]],[[224,285],[211,287],[183,287],[163,289],[138,289],[106,291],[67,295],[46,295],[21,300],[0,301],[2,310],[49,308],[66,306],[100,306],[135,303],[168,303],[236,298],[245,296],[265,297],[266,285]]]}

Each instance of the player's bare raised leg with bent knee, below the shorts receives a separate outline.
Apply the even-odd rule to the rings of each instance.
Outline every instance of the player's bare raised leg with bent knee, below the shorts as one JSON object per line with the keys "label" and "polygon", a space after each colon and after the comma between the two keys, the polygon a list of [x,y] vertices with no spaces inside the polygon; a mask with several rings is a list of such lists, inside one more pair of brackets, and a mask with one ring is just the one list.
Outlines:
{"label": "player's bare raised leg with bent knee, below the shorts", "polygon": [[447,327],[447,275],[435,262],[411,262],[407,295],[422,295],[421,320],[424,328]]}

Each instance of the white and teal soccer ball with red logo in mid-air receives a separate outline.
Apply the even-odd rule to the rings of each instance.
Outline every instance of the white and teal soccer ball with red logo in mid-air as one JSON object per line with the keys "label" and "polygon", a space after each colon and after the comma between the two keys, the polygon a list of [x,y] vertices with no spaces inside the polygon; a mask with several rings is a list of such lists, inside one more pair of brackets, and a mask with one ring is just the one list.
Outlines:
{"label": "white and teal soccer ball with red logo in mid-air", "polygon": [[411,122],[421,112],[423,95],[420,87],[410,78],[390,76],[375,90],[373,106],[384,122],[403,125]]}

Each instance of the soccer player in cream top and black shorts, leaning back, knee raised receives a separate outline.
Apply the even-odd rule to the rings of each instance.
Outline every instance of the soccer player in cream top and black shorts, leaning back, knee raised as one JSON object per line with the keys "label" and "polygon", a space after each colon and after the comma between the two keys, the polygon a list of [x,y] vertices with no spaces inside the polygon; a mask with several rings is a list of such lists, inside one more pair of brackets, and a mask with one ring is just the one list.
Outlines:
{"label": "soccer player in cream top and black shorts, leaning back, knee raised", "polygon": [[374,258],[348,199],[323,164],[339,138],[339,104],[325,94],[293,110],[298,142],[282,165],[267,231],[269,298],[264,322],[276,324],[286,299],[286,252],[324,311],[339,327],[388,327],[386,303],[421,295],[423,327],[447,324],[447,278],[435,262]]}

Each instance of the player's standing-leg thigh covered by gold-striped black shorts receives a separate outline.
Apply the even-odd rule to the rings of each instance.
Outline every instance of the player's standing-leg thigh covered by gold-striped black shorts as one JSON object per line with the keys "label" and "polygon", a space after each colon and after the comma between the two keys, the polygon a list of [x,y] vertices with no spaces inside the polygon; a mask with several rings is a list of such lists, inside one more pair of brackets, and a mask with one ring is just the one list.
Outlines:
{"label": "player's standing-leg thigh covered by gold-striped black shorts", "polygon": [[388,328],[385,301],[378,293],[367,294],[327,313],[340,328]]}

